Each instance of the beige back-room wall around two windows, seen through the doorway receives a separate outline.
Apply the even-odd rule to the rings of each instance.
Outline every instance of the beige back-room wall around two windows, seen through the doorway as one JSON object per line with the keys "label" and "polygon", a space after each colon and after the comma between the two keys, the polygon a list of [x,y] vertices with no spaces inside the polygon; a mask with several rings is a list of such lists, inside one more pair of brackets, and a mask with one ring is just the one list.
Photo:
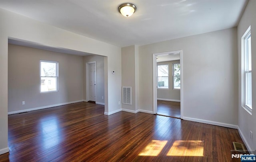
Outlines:
{"label": "beige back-room wall around two windows, seen through the doorway", "polygon": [[167,61],[167,62],[158,62],[157,65],[168,64],[169,67],[169,77],[168,77],[168,89],[157,89],[157,99],[161,100],[170,100],[170,101],[180,101],[180,90],[173,89],[173,80],[172,80],[172,64],[180,63],[179,60]]}

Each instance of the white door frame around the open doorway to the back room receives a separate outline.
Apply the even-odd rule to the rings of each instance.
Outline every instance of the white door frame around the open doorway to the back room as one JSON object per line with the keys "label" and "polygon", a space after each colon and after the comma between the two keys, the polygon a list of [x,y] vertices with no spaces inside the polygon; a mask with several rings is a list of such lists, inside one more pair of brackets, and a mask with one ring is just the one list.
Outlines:
{"label": "white door frame around the open doorway to the back room", "polygon": [[180,53],[180,118],[183,119],[183,62],[182,50],[153,53],[153,113],[157,113],[157,62],[156,57]]}

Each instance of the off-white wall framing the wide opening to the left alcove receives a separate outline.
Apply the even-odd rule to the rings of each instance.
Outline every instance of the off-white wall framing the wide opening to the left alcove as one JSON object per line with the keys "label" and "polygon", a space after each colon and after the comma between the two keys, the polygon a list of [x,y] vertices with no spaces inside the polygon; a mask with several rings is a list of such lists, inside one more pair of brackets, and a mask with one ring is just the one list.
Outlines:
{"label": "off-white wall framing the wide opening to the left alcove", "polygon": [[[8,152],[8,37],[72,49],[104,59],[105,114],[121,109],[121,48],[0,9],[0,154]],[[116,74],[112,75],[111,70]]]}

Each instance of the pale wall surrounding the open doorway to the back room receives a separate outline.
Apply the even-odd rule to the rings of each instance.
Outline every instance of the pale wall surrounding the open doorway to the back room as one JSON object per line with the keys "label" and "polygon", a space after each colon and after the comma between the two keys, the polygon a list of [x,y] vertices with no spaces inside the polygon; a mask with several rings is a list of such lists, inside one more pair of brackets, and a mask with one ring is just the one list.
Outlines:
{"label": "pale wall surrounding the open doorway to the back room", "polygon": [[182,50],[183,118],[236,127],[236,32],[235,27],[140,46],[140,109],[153,111],[152,54]]}

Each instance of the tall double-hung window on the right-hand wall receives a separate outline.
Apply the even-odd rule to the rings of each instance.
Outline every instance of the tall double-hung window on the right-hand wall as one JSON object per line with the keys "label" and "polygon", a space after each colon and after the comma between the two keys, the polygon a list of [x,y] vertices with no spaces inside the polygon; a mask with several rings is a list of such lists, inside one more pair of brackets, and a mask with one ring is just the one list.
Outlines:
{"label": "tall double-hung window on the right-hand wall", "polygon": [[[251,31],[250,27],[244,33],[242,37],[242,57],[244,57],[244,85],[242,86],[242,92],[244,93],[244,107],[249,111],[252,110],[252,52],[251,52]],[[243,66],[243,65],[242,65]],[[242,67],[241,66],[241,67]],[[242,67],[243,69],[243,67]],[[244,89],[244,90],[243,90]]]}

